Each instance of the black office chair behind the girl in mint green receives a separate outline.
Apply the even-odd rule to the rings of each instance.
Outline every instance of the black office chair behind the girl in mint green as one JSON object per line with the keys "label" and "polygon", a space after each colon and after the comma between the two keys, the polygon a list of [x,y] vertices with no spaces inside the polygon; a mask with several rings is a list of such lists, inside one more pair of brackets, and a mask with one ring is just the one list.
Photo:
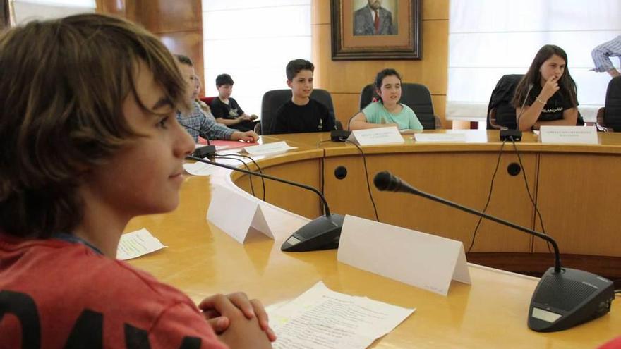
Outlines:
{"label": "black office chair behind the girl in mint green", "polygon": [[[364,109],[373,100],[373,84],[366,85],[360,92],[360,110]],[[425,130],[435,130],[442,128],[440,118],[433,114],[433,103],[431,102],[431,94],[425,85],[404,82],[401,84],[400,103],[409,106],[418,121],[421,121]]]}

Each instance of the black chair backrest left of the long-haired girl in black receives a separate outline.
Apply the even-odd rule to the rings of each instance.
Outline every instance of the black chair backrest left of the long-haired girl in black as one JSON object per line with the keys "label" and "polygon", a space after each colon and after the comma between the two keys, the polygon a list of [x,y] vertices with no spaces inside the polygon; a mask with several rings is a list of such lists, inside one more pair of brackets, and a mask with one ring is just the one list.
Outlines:
{"label": "black chair backrest left of the long-haired girl in black", "polygon": [[[515,108],[511,101],[515,94],[515,87],[523,76],[524,74],[502,75],[502,78],[496,83],[496,87],[490,96],[490,104],[488,104],[488,130],[498,128],[498,126],[512,130],[517,128]],[[495,109],[495,125],[490,123],[490,111],[492,109]]]}

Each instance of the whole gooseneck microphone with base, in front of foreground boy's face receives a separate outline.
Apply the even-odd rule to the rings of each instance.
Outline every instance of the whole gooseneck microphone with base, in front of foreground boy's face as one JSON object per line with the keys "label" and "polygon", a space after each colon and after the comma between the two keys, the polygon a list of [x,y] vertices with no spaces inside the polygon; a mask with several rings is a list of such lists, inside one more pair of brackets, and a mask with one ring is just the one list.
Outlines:
{"label": "whole gooseneck microphone with base, in front of foreground boy's face", "polygon": [[341,229],[343,228],[343,220],[345,219],[345,217],[341,214],[330,213],[330,207],[328,207],[325,197],[319,190],[311,187],[310,185],[292,182],[291,180],[270,176],[264,173],[256,173],[253,171],[239,169],[234,166],[218,164],[215,161],[200,159],[192,155],[188,155],[186,159],[203,162],[205,164],[238,171],[241,173],[246,173],[249,176],[257,176],[260,178],[275,180],[279,183],[293,185],[294,187],[303,188],[314,192],[320,197],[323,208],[325,210],[325,214],[323,216],[319,216],[318,218],[313,219],[312,221],[299,228],[295,233],[291,234],[291,236],[289,236],[289,238],[284,241],[284,243],[280,247],[280,250],[285,252],[306,252],[317,250],[330,250],[339,247]]}

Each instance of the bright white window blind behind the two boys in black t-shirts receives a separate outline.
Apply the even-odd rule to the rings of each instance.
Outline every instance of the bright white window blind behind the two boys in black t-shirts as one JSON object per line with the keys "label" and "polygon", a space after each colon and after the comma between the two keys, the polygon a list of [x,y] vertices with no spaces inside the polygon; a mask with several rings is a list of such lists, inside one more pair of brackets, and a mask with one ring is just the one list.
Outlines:
{"label": "bright white window blind behind the two boys in black t-shirts", "polygon": [[232,97],[260,115],[265,92],[288,88],[287,62],[311,58],[310,0],[203,0],[203,40],[205,94],[227,73]]}

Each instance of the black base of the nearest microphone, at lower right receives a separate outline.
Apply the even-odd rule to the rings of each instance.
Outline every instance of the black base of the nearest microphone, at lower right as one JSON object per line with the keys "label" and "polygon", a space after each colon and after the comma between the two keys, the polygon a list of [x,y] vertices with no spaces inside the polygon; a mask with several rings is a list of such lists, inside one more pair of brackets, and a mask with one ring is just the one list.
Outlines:
{"label": "black base of the nearest microphone, at lower right", "polygon": [[554,268],[541,276],[529,309],[529,329],[555,332],[610,312],[614,283],[588,271]]}

